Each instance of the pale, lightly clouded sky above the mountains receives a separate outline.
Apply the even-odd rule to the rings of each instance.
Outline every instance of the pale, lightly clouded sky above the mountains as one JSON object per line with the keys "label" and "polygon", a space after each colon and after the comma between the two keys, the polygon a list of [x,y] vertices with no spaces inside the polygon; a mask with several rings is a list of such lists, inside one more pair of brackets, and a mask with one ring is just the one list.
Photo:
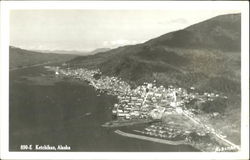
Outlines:
{"label": "pale, lightly clouded sky above the mountains", "polygon": [[229,10],[12,10],[10,45],[30,50],[78,50],[143,43]]}

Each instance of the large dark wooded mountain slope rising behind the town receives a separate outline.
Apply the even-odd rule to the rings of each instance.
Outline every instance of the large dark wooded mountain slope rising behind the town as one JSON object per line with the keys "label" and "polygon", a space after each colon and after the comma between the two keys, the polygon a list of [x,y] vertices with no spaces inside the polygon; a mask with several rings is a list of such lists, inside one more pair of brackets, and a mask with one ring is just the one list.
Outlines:
{"label": "large dark wooded mountain slope rising behind the town", "polygon": [[241,15],[221,15],[143,44],[76,57],[72,66],[100,68],[133,83],[240,92]]}

